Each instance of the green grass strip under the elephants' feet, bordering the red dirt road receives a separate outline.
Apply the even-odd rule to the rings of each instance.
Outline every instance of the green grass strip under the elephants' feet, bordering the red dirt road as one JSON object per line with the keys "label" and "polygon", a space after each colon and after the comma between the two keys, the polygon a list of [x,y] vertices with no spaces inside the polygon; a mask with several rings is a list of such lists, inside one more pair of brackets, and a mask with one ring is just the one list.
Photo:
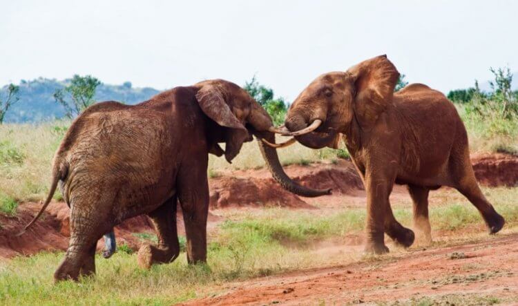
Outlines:
{"label": "green grass strip under the elephants' feet, bordering the red dirt road", "polygon": [[[484,191],[506,218],[507,227],[517,225],[518,188]],[[477,210],[466,200],[432,202],[430,209],[433,230],[483,224]],[[410,207],[395,207],[394,213],[403,224],[412,223]],[[211,236],[208,265],[187,265],[182,251],[175,262],[144,270],[137,266],[135,254],[119,249],[109,260],[97,256],[97,276],[81,283],[53,285],[52,274],[63,256],[61,252],[19,257],[0,263],[0,303],[170,305],[213,294],[215,287],[233,280],[361,260],[361,254],[354,251],[335,257],[316,256],[315,252],[320,243],[361,233],[365,214],[364,207],[336,211],[237,210]],[[142,238],[153,239],[147,235]]]}

